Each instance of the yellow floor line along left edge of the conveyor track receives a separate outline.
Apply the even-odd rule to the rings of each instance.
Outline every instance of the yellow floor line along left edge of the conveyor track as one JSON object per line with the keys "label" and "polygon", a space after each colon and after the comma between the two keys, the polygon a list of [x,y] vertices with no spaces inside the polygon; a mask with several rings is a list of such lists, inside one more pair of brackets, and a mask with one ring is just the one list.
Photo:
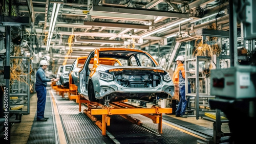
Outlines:
{"label": "yellow floor line along left edge of the conveyor track", "polygon": [[62,127],[62,124],[61,124],[61,121],[60,121],[59,112],[58,112],[58,109],[57,109],[57,105],[55,103],[55,99],[53,97],[52,90],[51,90],[51,97],[52,97],[52,104],[53,104],[56,126],[57,126],[57,130],[58,130],[59,143],[60,144],[67,144],[65,133],[63,131],[63,127]]}

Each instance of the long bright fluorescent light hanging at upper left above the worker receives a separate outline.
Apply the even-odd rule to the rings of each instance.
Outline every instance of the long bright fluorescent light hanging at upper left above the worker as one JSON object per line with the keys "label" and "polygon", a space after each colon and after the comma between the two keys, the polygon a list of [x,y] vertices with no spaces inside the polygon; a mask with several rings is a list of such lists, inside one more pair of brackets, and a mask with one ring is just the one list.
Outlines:
{"label": "long bright fluorescent light hanging at upper left above the worker", "polygon": [[55,23],[56,23],[56,20],[57,20],[57,17],[58,17],[59,7],[60,7],[60,3],[58,3],[58,4],[54,3],[53,4],[52,17],[51,17],[51,22],[50,22],[50,27],[49,27],[49,32],[48,32],[48,38],[47,38],[47,44],[46,44],[46,51],[47,52],[50,50],[51,39],[52,39]]}

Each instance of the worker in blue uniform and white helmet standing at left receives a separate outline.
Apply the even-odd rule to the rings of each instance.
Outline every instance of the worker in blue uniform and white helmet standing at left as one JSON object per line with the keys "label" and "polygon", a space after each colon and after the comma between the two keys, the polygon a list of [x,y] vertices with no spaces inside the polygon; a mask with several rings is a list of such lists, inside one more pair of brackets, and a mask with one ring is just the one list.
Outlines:
{"label": "worker in blue uniform and white helmet standing at left", "polygon": [[41,60],[40,67],[36,71],[36,83],[35,91],[37,93],[37,114],[36,121],[47,121],[49,117],[45,117],[45,107],[46,107],[46,95],[47,95],[47,82],[57,81],[57,79],[48,79],[45,75],[45,70],[49,66],[48,61]]}

